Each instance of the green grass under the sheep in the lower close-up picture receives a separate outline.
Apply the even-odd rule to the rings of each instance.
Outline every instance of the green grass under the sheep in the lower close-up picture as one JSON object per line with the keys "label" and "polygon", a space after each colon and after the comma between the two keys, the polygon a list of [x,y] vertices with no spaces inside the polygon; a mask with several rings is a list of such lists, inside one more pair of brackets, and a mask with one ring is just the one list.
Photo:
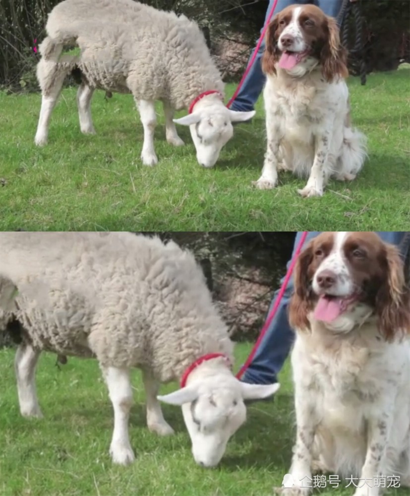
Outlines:
{"label": "green grass under the sheep in the lower close-up picture", "polygon": [[[248,344],[237,346],[237,365],[249,351]],[[230,440],[220,466],[206,470],[193,461],[179,408],[164,406],[175,436],[161,438],[148,432],[139,372],[133,375],[130,420],[137,459],[131,466],[118,467],[108,454],[113,413],[97,363],[69,359],[59,370],[55,355],[42,355],[37,389],[45,417],[24,419],[18,411],[13,355],[0,350],[2,496],[268,496],[289,471],[294,424],[289,363],[275,401],[250,405],[247,422]],[[352,487],[346,485],[342,481],[339,489],[328,487],[320,494],[352,495]],[[403,488],[387,492],[408,494]]]}

